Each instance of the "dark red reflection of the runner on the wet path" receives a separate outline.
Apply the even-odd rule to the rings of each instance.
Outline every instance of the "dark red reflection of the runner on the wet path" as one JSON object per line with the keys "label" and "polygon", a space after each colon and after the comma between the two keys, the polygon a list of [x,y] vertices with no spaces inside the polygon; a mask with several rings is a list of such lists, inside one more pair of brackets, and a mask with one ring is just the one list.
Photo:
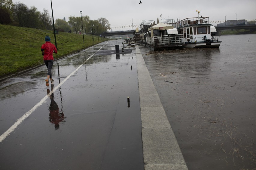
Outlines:
{"label": "dark red reflection of the runner on the wet path", "polygon": [[[51,85],[52,89],[53,89],[53,84]],[[51,90],[52,90],[51,89]],[[50,89],[47,89],[47,94],[50,93]],[[49,107],[50,113],[49,113],[49,121],[54,125],[55,129],[59,129],[59,122],[66,122],[64,119],[66,117],[64,117],[63,113],[59,113],[59,107],[57,105],[57,103],[53,100],[53,93],[50,95],[50,99],[51,99],[51,104]]]}

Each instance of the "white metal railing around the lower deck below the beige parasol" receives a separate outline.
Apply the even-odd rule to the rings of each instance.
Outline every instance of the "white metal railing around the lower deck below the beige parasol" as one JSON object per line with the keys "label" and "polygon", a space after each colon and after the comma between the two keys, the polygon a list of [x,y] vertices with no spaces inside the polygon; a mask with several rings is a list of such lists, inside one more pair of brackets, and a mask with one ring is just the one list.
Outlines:
{"label": "white metal railing around the lower deck below the beige parasol", "polygon": [[184,34],[146,37],[146,42],[151,46],[184,44]]}

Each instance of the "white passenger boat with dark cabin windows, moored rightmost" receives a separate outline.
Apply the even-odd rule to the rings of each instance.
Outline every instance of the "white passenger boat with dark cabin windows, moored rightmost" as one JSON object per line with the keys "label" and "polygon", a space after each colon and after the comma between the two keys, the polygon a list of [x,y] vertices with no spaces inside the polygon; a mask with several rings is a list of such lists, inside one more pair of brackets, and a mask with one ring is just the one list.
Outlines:
{"label": "white passenger boat with dark cabin windows, moored rightmost", "polygon": [[209,17],[186,18],[174,23],[178,34],[184,34],[185,48],[219,48],[221,41],[215,36],[216,28],[209,23]]}

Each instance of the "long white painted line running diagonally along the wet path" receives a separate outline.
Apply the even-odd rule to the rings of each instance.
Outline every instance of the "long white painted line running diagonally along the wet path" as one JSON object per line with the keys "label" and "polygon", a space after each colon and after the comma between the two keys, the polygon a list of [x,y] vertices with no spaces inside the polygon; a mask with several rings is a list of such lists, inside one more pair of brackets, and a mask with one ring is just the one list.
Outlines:
{"label": "long white painted line running diagonally along the wet path", "polygon": [[[101,48],[103,48],[108,42],[106,42]],[[101,50],[101,48],[99,50]],[[99,51],[98,50],[98,51]],[[94,54],[96,54],[98,51],[96,51]],[[83,66],[91,57],[93,57],[92,54],[87,60],[84,61],[84,63],[82,63],[77,69],[75,69],[75,71],[73,71],[70,75],[68,75],[68,77],[66,77],[58,86],[56,86],[49,94],[47,94],[46,96],[44,96],[44,98],[41,99],[41,101],[38,102],[38,104],[36,104],[34,107],[32,107],[32,109],[30,109],[27,113],[25,113],[23,116],[20,117],[20,119],[17,119],[17,121],[8,129],[5,131],[5,133],[3,133],[0,136],[0,142],[2,142],[7,136],[10,135],[10,133],[12,133],[27,117],[29,117],[29,115],[31,115],[38,107],[40,107],[42,104],[45,103],[46,99],[48,97],[50,97],[50,95],[56,91],[56,89],[58,89],[62,84],[64,84],[72,75],[75,74],[75,72],[78,71],[78,69],[81,68],[81,66]]]}

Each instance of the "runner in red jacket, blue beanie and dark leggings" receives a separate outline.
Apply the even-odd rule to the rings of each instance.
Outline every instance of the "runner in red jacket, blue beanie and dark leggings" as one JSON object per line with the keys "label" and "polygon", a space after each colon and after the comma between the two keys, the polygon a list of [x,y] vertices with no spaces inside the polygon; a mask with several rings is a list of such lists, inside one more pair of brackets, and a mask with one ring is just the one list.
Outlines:
{"label": "runner in red jacket, blue beanie and dark leggings", "polygon": [[52,66],[53,66],[53,53],[57,54],[57,48],[54,44],[50,42],[50,37],[45,37],[45,43],[41,46],[42,55],[44,56],[44,63],[47,66],[48,72],[47,72],[47,79],[46,86],[49,86],[49,78],[51,81],[51,84],[53,83],[52,79]]}

